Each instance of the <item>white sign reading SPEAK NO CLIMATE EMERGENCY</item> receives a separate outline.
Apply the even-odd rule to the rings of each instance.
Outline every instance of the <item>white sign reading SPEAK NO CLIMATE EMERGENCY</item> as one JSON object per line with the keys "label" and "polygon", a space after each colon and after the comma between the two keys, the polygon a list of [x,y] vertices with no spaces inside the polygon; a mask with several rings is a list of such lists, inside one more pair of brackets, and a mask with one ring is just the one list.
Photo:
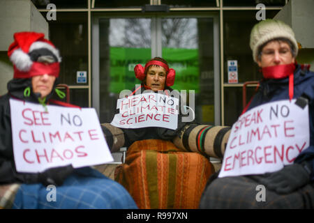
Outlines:
{"label": "white sign reading SPEAK NO CLIMATE EMERGENCY", "polygon": [[308,105],[281,100],[255,107],[232,125],[218,177],[264,174],[292,164],[310,144]]}

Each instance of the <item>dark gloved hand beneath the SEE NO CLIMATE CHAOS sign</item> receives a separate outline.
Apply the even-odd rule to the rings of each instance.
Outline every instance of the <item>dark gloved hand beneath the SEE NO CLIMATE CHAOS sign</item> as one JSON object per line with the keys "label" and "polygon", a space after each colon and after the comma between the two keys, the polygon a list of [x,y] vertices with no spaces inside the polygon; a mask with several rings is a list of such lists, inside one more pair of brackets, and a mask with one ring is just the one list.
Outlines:
{"label": "dark gloved hand beneath the SEE NO CLIMATE CHAOS sign", "polygon": [[43,183],[45,186],[50,184],[60,186],[72,172],[72,164],[69,164],[65,167],[53,167],[46,169],[43,173],[40,173],[38,177],[40,183]]}

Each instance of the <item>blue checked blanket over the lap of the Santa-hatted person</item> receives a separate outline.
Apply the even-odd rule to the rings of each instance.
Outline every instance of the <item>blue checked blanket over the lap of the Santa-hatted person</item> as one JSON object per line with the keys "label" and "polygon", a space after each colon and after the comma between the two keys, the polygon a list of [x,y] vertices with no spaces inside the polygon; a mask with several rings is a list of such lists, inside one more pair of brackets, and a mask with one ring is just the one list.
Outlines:
{"label": "blue checked blanket over the lap of the Santa-hatted person", "polygon": [[0,185],[0,208],[137,209],[124,187],[89,167],[75,169],[51,192],[40,183]]}

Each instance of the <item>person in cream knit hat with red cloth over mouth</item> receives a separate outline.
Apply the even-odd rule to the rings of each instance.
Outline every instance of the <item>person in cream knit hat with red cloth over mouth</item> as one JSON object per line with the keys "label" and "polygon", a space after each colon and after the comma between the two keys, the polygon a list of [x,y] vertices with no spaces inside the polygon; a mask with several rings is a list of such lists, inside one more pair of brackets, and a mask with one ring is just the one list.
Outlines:
{"label": "person in cream knit hat with red cloth over mouth", "polygon": [[[266,174],[223,178],[216,178],[216,174],[204,190],[200,208],[313,208],[314,73],[308,70],[309,66],[297,64],[294,32],[279,20],[256,24],[251,31],[250,46],[264,78],[243,113],[270,102],[296,99],[299,107],[308,105],[309,146],[299,151],[292,163]],[[294,121],[302,118],[295,116]],[[296,141],[298,134],[302,133],[295,132]],[[257,185],[266,188],[264,201],[256,199]]]}

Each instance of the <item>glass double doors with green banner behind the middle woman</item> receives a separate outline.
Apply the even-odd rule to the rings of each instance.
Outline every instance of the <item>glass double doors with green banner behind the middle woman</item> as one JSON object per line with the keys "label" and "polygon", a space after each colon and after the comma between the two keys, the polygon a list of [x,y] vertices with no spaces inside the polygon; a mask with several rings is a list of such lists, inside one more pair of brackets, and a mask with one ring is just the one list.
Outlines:
{"label": "glass double doors with green banner behind the middle woman", "polygon": [[[119,93],[140,81],[133,69],[162,56],[176,70],[172,89],[185,93],[202,124],[220,124],[218,17],[95,17],[92,26],[92,105],[112,121]],[[184,94],[183,94],[184,95]]]}

